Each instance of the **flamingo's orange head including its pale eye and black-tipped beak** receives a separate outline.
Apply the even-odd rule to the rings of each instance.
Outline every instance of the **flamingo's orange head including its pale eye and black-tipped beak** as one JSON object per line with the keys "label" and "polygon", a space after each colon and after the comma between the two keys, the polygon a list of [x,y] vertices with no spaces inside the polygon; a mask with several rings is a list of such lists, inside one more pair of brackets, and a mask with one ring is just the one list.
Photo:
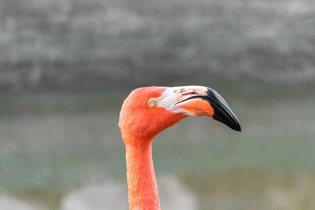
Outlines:
{"label": "flamingo's orange head including its pale eye and black-tipped beak", "polygon": [[206,116],[241,131],[227,102],[203,86],[137,88],[123,103],[119,127],[126,144],[147,141],[188,116]]}

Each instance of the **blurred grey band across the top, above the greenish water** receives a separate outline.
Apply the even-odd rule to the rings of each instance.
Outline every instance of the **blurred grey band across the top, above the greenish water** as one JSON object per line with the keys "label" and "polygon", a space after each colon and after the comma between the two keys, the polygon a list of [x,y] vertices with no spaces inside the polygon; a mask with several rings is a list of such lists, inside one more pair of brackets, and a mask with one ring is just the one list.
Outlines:
{"label": "blurred grey band across the top, above the greenish water", "polygon": [[313,6],[307,0],[0,1],[0,91],[211,78],[312,82]]}

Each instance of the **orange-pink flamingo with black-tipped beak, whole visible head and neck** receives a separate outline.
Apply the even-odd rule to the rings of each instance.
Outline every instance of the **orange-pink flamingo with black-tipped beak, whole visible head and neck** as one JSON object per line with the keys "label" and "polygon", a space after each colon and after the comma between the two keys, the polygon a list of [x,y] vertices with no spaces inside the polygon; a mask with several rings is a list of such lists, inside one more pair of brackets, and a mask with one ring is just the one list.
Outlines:
{"label": "orange-pink flamingo with black-tipped beak, whole visible head and neck", "polygon": [[119,127],[126,147],[130,210],[161,209],[151,143],[157,134],[188,116],[207,116],[241,131],[227,102],[208,87],[140,87],[124,100]]}

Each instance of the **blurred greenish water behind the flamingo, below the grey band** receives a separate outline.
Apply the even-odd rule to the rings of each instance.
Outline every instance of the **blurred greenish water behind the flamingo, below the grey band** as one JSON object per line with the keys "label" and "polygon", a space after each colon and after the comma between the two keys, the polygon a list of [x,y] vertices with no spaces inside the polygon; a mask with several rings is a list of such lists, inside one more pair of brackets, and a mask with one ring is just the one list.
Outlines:
{"label": "blurred greenish water behind the flamingo, below the grey band", "polygon": [[[227,100],[242,133],[203,117],[184,119],[153,141],[157,176],[180,177],[198,195],[201,209],[313,209],[315,85],[200,85]],[[124,182],[118,116],[130,91],[1,95],[0,188],[57,209],[70,189]],[[272,207],[269,196],[285,197],[287,205]]]}

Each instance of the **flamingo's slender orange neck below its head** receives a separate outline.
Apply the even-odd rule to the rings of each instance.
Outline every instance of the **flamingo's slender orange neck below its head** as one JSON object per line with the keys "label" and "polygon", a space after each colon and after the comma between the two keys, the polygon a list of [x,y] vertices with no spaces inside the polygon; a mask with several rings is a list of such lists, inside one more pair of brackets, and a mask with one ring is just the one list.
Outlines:
{"label": "flamingo's slender orange neck below its head", "polygon": [[[143,142],[145,142],[143,144]],[[158,210],[160,200],[152,161],[152,140],[126,144],[129,209]]]}

